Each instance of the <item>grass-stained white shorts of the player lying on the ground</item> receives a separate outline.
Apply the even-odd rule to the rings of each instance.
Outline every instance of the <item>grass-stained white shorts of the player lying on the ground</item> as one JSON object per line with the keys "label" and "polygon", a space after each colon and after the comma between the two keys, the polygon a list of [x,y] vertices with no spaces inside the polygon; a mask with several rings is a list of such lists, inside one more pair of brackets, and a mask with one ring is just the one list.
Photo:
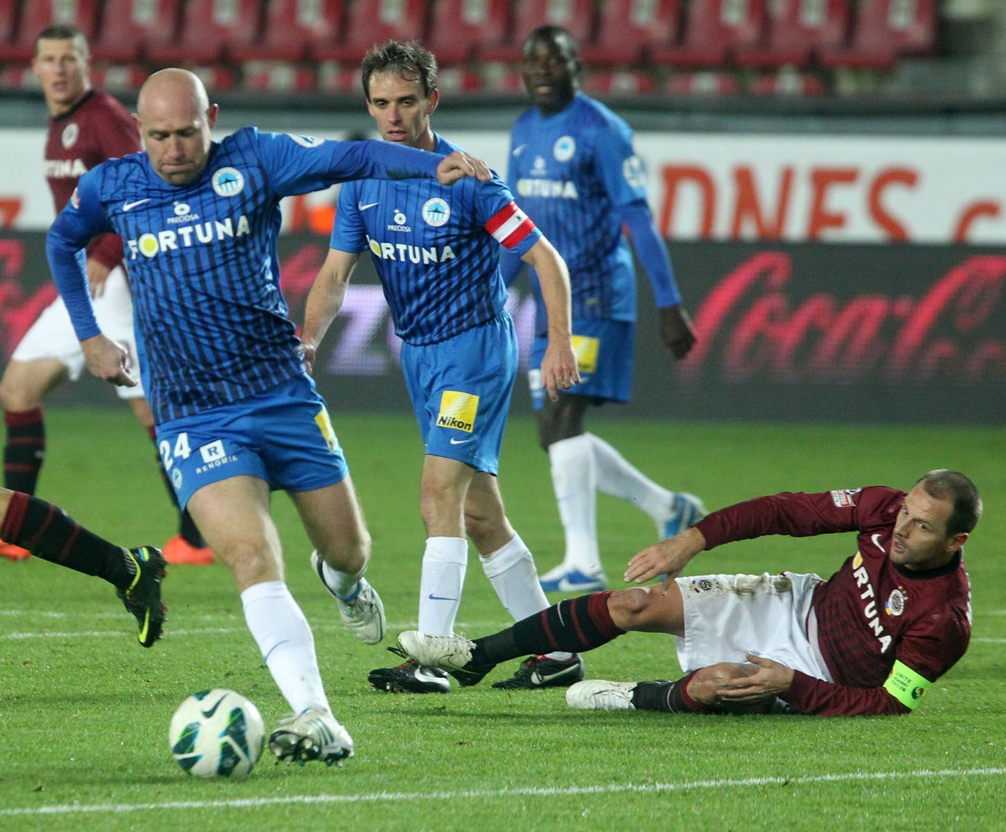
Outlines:
{"label": "grass-stained white shorts of the player lying on the ground", "polygon": [[675,636],[686,673],[757,653],[816,679],[832,681],[811,610],[819,575],[704,574],[677,578],[685,635]]}

